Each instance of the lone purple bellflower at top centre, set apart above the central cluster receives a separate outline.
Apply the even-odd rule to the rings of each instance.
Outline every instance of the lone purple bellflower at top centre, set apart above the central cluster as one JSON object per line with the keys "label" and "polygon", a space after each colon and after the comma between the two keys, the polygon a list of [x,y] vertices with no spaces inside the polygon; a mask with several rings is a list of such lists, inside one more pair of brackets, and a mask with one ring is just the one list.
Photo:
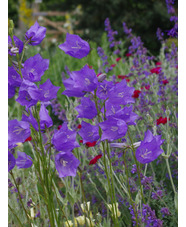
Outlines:
{"label": "lone purple bellflower at top centre, set apart above the central cluster", "polygon": [[90,52],[89,44],[82,40],[78,35],[71,35],[67,33],[66,41],[59,45],[59,48],[74,58],[84,58]]}

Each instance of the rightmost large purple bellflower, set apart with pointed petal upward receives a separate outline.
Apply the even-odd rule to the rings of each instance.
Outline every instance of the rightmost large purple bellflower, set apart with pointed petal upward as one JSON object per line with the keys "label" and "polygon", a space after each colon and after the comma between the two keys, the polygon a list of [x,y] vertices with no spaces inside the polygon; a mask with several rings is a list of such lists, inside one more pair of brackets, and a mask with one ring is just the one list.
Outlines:
{"label": "rightmost large purple bellflower, set apart with pointed petal upward", "polygon": [[163,150],[160,145],[164,142],[161,136],[153,136],[150,130],[145,133],[145,138],[136,150],[136,159],[142,164],[154,161],[158,158]]}

